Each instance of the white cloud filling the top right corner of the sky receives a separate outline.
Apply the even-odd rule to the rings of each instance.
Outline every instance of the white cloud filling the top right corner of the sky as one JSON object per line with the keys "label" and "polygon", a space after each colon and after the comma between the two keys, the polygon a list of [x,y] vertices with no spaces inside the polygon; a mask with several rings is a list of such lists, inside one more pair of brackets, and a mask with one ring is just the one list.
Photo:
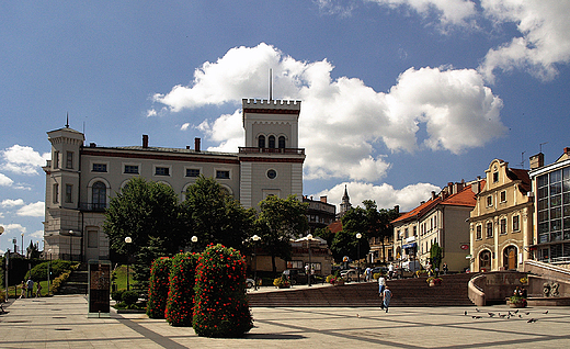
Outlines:
{"label": "white cloud filling the top right corner of the sky", "polygon": [[487,53],[479,70],[490,80],[493,71],[526,69],[543,80],[558,74],[557,64],[570,61],[570,1],[482,0],[485,14],[500,23],[515,23],[514,37]]}

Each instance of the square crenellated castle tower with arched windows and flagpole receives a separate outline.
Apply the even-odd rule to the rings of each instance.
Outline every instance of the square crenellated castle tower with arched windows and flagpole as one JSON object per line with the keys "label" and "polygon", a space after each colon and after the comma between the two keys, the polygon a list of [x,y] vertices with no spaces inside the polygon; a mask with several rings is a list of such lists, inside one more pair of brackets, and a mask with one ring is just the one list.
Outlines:
{"label": "square crenellated castle tower with arched windows and flagpole", "polygon": [[239,161],[244,207],[256,207],[269,195],[303,200],[299,113],[300,101],[242,100],[246,146],[239,148]]}

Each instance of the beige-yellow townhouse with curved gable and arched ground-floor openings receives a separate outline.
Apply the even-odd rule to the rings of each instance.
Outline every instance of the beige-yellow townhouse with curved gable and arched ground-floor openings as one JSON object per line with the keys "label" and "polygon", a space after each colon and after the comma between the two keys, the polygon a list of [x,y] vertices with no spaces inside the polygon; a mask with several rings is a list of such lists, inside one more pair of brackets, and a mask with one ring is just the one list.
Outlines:
{"label": "beige-yellow townhouse with curved gable and arched ground-floor openings", "polygon": [[528,171],[494,159],[469,218],[471,270],[514,270],[529,259],[533,201]]}

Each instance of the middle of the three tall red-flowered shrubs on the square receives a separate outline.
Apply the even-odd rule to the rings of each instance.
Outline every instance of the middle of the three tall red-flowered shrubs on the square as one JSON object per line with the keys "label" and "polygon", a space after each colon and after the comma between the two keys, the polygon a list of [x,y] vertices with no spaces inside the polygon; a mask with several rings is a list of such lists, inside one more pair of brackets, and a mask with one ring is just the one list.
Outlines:
{"label": "middle of the three tall red-flowered shrubs on the square", "polygon": [[172,258],[164,316],[172,326],[192,326],[194,282],[200,255],[179,254]]}

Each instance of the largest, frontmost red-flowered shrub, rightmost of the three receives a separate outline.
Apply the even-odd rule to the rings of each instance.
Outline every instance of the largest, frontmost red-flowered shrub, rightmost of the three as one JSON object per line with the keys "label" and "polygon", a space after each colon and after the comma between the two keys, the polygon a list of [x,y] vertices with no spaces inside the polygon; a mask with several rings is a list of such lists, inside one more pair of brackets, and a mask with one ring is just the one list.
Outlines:
{"label": "largest, frontmost red-flowered shrub, rightmost of the three", "polygon": [[193,327],[202,337],[241,337],[253,327],[239,251],[209,245],[198,258]]}

